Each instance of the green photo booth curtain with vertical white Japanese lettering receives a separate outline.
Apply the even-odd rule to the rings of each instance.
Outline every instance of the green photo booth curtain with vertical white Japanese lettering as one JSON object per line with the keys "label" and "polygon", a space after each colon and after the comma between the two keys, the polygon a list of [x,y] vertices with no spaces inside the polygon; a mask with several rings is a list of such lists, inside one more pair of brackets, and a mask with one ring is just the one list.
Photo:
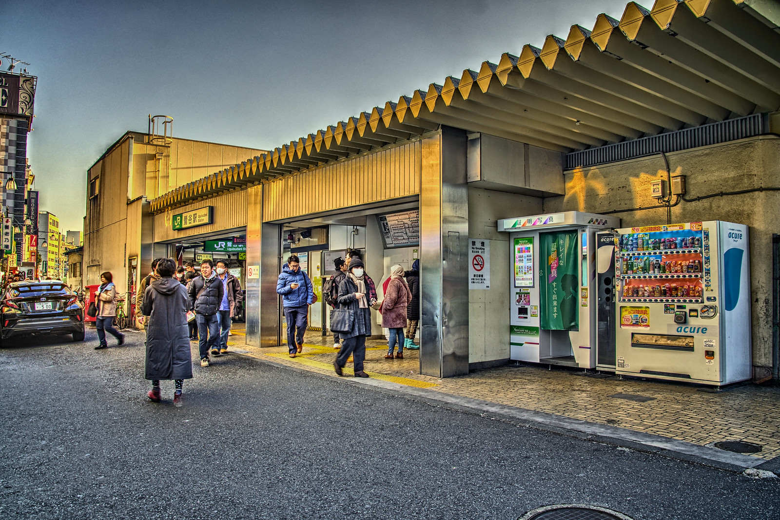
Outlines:
{"label": "green photo booth curtain with vertical white Japanese lettering", "polygon": [[579,324],[577,232],[541,233],[539,242],[541,328],[569,331]]}

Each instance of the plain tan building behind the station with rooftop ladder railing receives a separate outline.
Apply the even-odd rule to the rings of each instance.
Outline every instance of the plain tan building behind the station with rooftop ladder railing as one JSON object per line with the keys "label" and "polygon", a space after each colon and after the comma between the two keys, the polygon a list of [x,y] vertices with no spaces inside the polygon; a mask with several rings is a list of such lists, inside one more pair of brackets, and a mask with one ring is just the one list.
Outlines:
{"label": "plain tan building behind the station with rooftop ladder railing", "polygon": [[101,272],[110,271],[118,294],[134,294],[138,277],[145,276],[151,261],[161,255],[151,242],[154,224],[148,200],[262,153],[157,135],[152,128],[150,124],[150,133],[125,133],[87,172],[84,286],[99,284]]}

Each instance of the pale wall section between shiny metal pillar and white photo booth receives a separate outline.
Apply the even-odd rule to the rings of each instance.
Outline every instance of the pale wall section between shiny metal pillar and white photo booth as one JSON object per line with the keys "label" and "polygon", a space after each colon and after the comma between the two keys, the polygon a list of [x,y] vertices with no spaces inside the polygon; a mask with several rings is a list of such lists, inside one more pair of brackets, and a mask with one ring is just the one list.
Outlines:
{"label": "pale wall section between shiny metal pillar and white photo booth", "polygon": [[469,188],[469,238],[490,240],[491,288],[469,291],[469,363],[491,366],[509,359],[509,233],[498,219],[539,214],[534,196]]}

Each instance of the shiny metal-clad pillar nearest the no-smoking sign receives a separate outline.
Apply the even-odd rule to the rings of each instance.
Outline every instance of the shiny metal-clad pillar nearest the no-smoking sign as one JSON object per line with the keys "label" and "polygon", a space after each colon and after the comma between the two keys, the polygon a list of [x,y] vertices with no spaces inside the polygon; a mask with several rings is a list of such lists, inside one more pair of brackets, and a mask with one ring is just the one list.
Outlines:
{"label": "shiny metal-clad pillar nearest the no-smoking sign", "polygon": [[442,127],[422,142],[420,373],[469,373],[466,133]]}

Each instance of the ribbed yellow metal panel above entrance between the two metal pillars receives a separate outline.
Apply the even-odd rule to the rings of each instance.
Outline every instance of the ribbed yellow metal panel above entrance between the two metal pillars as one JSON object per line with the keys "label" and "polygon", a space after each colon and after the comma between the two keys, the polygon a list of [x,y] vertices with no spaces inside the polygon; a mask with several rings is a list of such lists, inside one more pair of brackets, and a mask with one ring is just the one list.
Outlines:
{"label": "ribbed yellow metal panel above entrance between the two metal pillars", "polygon": [[420,140],[406,141],[268,182],[263,191],[263,221],[417,195],[421,150]]}

